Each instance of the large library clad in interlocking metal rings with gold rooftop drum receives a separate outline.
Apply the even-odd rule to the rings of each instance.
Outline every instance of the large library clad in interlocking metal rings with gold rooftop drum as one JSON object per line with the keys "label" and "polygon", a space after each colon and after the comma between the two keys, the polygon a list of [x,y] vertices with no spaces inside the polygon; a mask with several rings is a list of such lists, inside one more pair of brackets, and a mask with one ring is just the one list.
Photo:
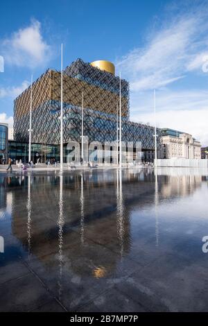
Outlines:
{"label": "large library clad in interlocking metal rings with gold rooftop drum", "polygon": [[[60,71],[47,70],[33,83],[32,157],[60,157]],[[83,135],[89,143],[116,141],[119,112],[120,78],[114,65],[107,61],[92,63],[76,60],[63,71],[64,162],[67,143],[81,139],[82,107]],[[10,155],[27,160],[31,87],[15,99],[14,140],[10,141]],[[121,79],[122,141],[141,141],[144,157],[153,151],[154,128],[130,121],[129,83]],[[157,150],[162,149],[161,130],[157,129]]]}

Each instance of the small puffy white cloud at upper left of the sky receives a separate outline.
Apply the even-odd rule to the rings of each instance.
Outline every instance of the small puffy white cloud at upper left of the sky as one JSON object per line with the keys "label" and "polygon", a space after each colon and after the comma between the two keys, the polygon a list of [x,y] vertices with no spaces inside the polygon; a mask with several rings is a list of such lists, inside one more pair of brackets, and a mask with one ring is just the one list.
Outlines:
{"label": "small puffy white cloud at upper left of the sky", "polygon": [[37,20],[1,40],[1,48],[5,62],[10,65],[33,68],[45,64],[51,58],[51,46],[44,41],[41,24]]}

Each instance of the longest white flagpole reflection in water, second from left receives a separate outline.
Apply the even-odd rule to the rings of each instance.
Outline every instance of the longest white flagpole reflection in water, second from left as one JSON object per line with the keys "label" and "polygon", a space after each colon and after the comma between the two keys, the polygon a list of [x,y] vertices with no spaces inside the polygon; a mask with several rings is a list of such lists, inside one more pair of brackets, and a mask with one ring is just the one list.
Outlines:
{"label": "longest white flagpole reflection in water, second from left", "polygon": [[62,270],[63,270],[63,255],[62,255],[62,246],[63,246],[63,227],[64,227],[64,214],[63,214],[63,176],[60,175],[60,198],[59,198],[59,217],[58,217],[58,260],[59,260],[59,299],[62,295]]}

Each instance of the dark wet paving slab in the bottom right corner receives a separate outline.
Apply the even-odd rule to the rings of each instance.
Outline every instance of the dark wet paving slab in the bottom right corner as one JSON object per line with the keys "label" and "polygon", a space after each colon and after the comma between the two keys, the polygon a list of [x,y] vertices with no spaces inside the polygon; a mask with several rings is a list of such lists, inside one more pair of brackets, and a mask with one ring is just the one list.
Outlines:
{"label": "dark wet paving slab in the bottom right corner", "polygon": [[116,288],[150,311],[207,311],[207,268],[164,255]]}

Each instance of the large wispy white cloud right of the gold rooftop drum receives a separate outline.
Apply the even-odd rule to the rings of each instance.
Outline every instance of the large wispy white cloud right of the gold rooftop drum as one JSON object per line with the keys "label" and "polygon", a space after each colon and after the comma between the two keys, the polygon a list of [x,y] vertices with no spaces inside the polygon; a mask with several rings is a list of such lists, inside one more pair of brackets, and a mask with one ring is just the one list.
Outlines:
{"label": "large wispy white cloud right of the gold rooftop drum", "polygon": [[159,88],[184,77],[187,71],[202,71],[208,54],[205,12],[178,15],[116,62],[116,68],[130,81],[132,91]]}

